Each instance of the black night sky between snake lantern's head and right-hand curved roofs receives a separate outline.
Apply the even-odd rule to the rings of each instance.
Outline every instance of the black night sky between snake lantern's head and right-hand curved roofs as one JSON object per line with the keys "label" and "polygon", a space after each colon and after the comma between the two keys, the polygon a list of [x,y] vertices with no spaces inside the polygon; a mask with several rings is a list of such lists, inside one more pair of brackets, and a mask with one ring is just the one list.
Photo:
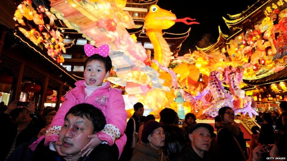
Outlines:
{"label": "black night sky between snake lantern's head and right-hand curved roofs", "polygon": [[222,17],[229,18],[227,14],[237,14],[251,6],[257,0],[219,0],[219,1],[188,1],[188,0],[158,0],[157,5],[162,9],[171,10],[177,18],[196,18],[200,24],[186,25],[177,22],[168,30],[171,33],[184,33],[191,27],[188,38],[183,42],[179,55],[196,50],[198,47],[204,48],[216,42],[219,33],[218,25],[223,33],[228,30]]}

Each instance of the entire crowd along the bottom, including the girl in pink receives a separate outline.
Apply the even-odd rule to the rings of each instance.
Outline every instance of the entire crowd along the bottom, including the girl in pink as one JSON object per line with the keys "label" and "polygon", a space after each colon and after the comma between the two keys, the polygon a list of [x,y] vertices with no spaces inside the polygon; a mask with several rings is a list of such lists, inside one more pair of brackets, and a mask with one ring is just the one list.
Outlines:
{"label": "entire crowd along the bottom, including the girl in pink", "polygon": [[[267,160],[286,158],[287,102],[282,114],[263,113],[261,128],[252,128],[250,147],[230,107],[221,107],[215,128],[196,123],[187,113],[179,120],[176,111],[164,108],[159,122],[153,115],[143,116],[140,102],[127,122],[121,91],[104,82],[112,68],[111,58],[90,53],[84,63],[84,80],[65,95],[58,111],[35,111],[35,103],[14,101],[1,106],[0,137],[4,149],[0,160],[69,161],[188,161],[188,160]],[[88,54],[89,53],[89,54]],[[93,55],[94,54],[94,55]],[[216,135],[217,134],[217,135]]]}

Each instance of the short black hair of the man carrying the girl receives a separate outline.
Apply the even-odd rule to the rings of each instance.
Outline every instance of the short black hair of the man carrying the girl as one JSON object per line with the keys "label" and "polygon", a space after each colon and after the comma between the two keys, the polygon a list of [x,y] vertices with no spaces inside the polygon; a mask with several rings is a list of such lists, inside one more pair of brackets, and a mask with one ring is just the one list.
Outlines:
{"label": "short black hair of the man carrying the girl", "polygon": [[65,119],[68,114],[81,118],[86,117],[88,120],[92,121],[94,132],[101,131],[106,125],[106,118],[102,111],[91,104],[77,104],[73,106],[66,114]]}

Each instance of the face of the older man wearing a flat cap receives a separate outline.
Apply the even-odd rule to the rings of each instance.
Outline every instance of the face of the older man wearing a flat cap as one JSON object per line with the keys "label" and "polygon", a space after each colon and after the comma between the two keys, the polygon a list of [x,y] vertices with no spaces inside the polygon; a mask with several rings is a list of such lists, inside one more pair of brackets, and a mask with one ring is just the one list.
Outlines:
{"label": "face of the older man wearing a flat cap", "polygon": [[210,132],[206,127],[199,127],[188,135],[195,151],[208,151],[211,143]]}

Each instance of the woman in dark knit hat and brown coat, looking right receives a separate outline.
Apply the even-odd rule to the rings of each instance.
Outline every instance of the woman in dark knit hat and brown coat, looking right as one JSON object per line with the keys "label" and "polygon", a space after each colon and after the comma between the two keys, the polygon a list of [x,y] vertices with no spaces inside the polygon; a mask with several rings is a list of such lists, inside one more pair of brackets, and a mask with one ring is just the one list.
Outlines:
{"label": "woman in dark knit hat and brown coat, looking right", "polygon": [[141,135],[141,142],[136,144],[131,161],[166,161],[161,148],[164,146],[165,135],[157,121],[148,121]]}

